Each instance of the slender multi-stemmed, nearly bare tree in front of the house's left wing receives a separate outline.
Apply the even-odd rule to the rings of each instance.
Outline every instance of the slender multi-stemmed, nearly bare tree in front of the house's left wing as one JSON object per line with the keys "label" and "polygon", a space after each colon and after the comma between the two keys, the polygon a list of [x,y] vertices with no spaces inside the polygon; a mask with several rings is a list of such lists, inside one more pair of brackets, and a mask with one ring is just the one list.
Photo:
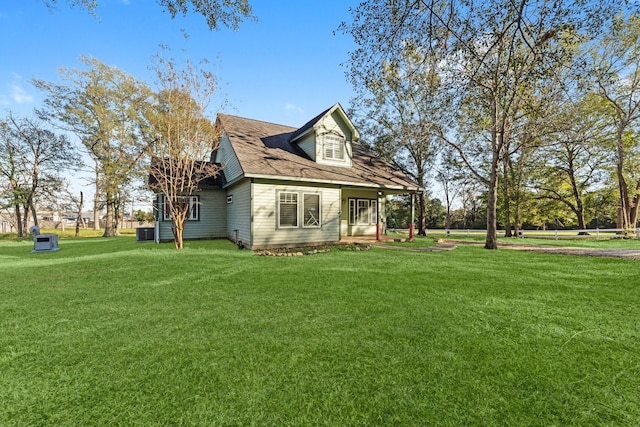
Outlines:
{"label": "slender multi-stemmed, nearly bare tree in front of the house's left wing", "polygon": [[161,56],[155,71],[160,90],[149,118],[149,173],[152,188],[164,198],[159,209],[170,215],[176,249],[181,250],[184,227],[195,208],[190,196],[219,172],[217,165],[207,161],[216,148],[219,130],[206,117],[217,81],[189,61],[178,69],[174,60]]}

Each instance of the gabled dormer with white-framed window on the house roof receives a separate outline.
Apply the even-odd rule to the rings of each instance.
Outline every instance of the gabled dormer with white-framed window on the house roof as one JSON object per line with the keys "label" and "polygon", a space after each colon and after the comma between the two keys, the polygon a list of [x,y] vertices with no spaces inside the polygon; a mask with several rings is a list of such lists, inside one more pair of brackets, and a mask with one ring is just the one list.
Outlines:
{"label": "gabled dormer with white-framed window on the house roof", "polygon": [[336,104],[295,131],[290,142],[298,145],[316,163],[351,167],[351,143],[359,139],[357,129],[342,106]]}

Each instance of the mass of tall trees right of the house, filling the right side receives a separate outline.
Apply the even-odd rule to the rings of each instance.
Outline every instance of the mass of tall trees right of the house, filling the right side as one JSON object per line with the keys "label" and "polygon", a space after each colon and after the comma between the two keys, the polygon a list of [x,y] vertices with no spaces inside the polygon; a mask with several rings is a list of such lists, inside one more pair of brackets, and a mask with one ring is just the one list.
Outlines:
{"label": "mass of tall trees right of the house, filling the right side", "polygon": [[638,7],[449,0],[352,9],[341,27],[357,44],[351,112],[369,146],[426,188],[419,232],[436,195],[446,227],[484,217],[490,249],[498,226],[635,227]]}

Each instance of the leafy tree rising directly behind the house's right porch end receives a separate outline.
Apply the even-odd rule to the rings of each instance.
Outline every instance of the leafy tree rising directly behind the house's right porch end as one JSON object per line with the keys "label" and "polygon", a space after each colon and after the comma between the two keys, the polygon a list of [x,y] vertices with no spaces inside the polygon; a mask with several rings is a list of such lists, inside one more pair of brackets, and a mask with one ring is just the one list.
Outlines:
{"label": "leafy tree rising directly behind the house's right porch end", "polygon": [[[351,54],[348,74],[358,92],[352,111],[358,125],[376,136],[368,145],[425,186],[439,142],[437,58],[425,59],[409,41],[402,49],[380,68],[368,68],[360,50]],[[426,204],[419,194],[419,235],[426,234]]]}

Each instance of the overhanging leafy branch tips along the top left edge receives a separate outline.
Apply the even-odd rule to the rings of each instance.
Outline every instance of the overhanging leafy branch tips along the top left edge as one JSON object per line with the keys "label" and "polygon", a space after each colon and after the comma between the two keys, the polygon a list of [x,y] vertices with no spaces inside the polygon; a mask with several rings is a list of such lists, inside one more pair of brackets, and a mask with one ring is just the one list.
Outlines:
{"label": "overhanging leafy branch tips along the top left edge", "polygon": [[[54,8],[58,0],[42,0],[48,8]],[[66,0],[71,6],[87,9],[89,13],[96,15],[99,0]],[[210,30],[219,29],[221,26],[234,30],[243,19],[255,19],[253,10],[247,0],[156,0],[163,9],[169,12],[171,18],[182,14],[186,16],[192,10],[204,16]]]}

